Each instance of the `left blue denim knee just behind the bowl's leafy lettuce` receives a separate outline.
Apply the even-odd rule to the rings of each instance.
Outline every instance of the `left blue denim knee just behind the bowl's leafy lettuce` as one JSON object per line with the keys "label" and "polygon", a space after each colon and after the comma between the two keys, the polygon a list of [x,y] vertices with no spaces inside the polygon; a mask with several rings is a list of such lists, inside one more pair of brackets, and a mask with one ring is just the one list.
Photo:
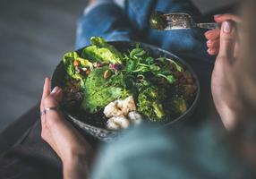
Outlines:
{"label": "left blue denim knee just behind the bowl's leafy lettuce", "polygon": [[123,11],[114,3],[99,4],[78,21],[76,48],[90,45],[90,37],[100,36],[107,41],[132,40],[134,33]]}

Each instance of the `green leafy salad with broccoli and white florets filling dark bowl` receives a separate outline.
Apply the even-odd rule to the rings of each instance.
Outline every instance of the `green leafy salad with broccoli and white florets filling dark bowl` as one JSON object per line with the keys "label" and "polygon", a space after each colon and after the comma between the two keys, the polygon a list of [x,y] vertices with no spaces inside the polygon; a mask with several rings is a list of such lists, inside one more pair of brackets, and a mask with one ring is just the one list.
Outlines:
{"label": "green leafy salad with broccoli and white florets filling dark bowl", "polygon": [[195,106],[197,77],[177,56],[142,43],[100,37],[90,43],[66,53],[53,76],[52,86],[64,89],[64,112],[76,124],[118,132],[172,123]]}

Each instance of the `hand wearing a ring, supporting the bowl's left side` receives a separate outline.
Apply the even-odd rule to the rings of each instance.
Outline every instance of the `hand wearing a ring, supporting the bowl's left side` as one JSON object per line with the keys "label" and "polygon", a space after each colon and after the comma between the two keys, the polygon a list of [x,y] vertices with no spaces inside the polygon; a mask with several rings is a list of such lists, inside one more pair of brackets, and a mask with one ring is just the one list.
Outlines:
{"label": "hand wearing a ring, supporting the bowl's left side", "polygon": [[[50,79],[47,78],[40,105],[41,112],[47,107],[58,107],[62,97],[63,91],[58,87],[50,92]],[[90,144],[57,110],[48,110],[42,114],[41,125],[43,140],[47,141],[63,162],[64,178],[86,178],[88,163],[93,155]]]}

